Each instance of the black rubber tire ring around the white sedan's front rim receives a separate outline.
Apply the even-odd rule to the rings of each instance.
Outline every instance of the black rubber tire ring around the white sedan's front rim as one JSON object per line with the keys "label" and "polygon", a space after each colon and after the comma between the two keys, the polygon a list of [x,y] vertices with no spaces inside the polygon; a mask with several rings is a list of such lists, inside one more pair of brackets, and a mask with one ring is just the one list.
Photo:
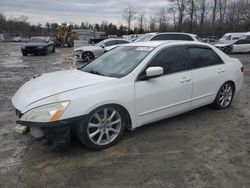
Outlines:
{"label": "black rubber tire ring around the white sedan's front rim", "polygon": [[[122,118],[122,123],[121,123],[121,130],[118,134],[118,136],[115,138],[115,140],[107,145],[96,145],[95,143],[93,143],[90,139],[89,139],[89,136],[88,136],[88,133],[87,133],[87,129],[88,129],[88,123],[90,121],[90,118],[97,112],[97,111],[100,111],[104,108],[113,108],[115,109],[119,115],[121,116]],[[91,148],[91,149],[94,149],[94,150],[101,150],[101,149],[106,149],[106,148],[109,148],[113,145],[115,145],[118,140],[120,139],[120,137],[123,135],[124,131],[125,131],[125,127],[126,127],[126,121],[125,121],[125,118],[124,118],[124,114],[122,112],[122,110],[119,108],[119,107],[116,107],[114,105],[105,105],[105,106],[102,106],[102,107],[99,107],[99,108],[96,108],[95,110],[93,110],[92,112],[90,112],[88,114],[88,116],[82,120],[79,125],[77,126],[77,136],[78,138],[80,139],[80,141],[86,145],[87,147]]]}

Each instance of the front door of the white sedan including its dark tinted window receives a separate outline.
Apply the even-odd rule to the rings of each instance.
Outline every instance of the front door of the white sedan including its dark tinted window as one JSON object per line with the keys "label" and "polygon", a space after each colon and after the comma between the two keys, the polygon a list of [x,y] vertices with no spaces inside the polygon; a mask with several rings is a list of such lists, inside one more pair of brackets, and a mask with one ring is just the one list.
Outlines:
{"label": "front door of the white sedan including its dark tinted window", "polygon": [[149,67],[162,67],[164,75],[148,80],[140,80],[139,77],[135,82],[139,126],[177,115],[190,108],[192,75],[191,71],[187,71],[184,47],[161,50],[148,64]]}

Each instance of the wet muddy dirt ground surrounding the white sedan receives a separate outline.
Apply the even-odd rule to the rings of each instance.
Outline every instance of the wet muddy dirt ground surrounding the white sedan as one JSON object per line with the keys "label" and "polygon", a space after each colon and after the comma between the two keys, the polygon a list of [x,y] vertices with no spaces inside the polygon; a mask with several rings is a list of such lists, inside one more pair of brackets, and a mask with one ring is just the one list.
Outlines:
{"label": "wet muddy dirt ground surrounding the white sedan", "polygon": [[15,132],[11,97],[36,74],[70,69],[73,49],[22,57],[0,43],[0,187],[250,187],[250,55],[234,55],[245,83],[224,111],[203,107],[126,132],[103,151],[77,139],[63,152]]}

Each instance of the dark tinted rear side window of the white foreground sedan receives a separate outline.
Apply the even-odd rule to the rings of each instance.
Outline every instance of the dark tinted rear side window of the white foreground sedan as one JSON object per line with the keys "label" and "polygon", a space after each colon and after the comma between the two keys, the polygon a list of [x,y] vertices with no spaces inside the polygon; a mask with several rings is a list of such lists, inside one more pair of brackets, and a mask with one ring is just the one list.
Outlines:
{"label": "dark tinted rear side window of the white foreground sedan", "polygon": [[191,68],[200,68],[222,64],[221,58],[211,49],[206,47],[189,47]]}

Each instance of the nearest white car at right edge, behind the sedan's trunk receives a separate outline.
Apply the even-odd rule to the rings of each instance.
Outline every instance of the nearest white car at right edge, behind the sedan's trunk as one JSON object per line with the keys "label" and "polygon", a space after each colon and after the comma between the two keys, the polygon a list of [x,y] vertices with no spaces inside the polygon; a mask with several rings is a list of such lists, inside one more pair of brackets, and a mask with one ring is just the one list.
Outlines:
{"label": "nearest white car at right edge, behind the sedan's trunk", "polygon": [[215,44],[215,47],[219,48],[226,54],[232,53],[250,53],[250,36],[236,40],[229,44]]}

